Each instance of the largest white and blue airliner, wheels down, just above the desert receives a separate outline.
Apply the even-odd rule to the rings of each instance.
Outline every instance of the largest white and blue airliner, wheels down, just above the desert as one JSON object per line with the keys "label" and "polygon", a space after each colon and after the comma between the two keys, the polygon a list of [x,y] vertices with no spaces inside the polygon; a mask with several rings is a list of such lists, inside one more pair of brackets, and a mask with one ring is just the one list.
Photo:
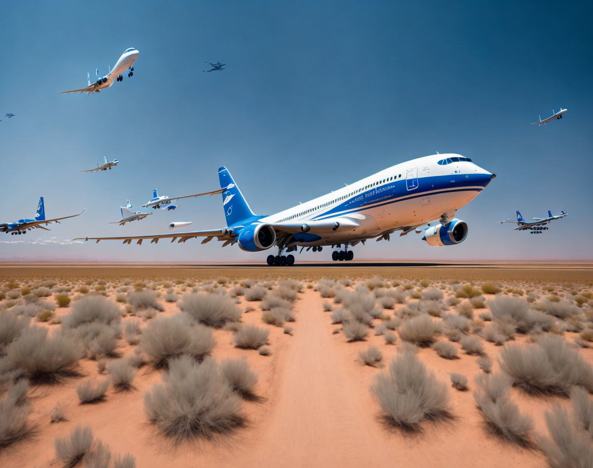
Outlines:
{"label": "largest white and blue airliner, wheels down, just above the desert", "polygon": [[[216,238],[222,247],[238,244],[248,252],[278,248],[267,257],[268,265],[293,265],[298,247],[334,250],[333,260],[352,260],[348,247],[367,239],[389,240],[390,234],[405,235],[416,230],[431,246],[451,246],[467,237],[467,223],[455,218],[458,209],[471,202],[486,187],[491,174],[470,158],[457,154],[436,154],[396,164],[327,195],[285,209],[273,215],[256,215],[225,167],[218,170],[222,205],[227,227],[209,231],[82,237],[81,240],[136,240],[158,243],[162,238],[185,242],[204,237],[202,244]],[[420,229],[435,219],[435,226]]]}

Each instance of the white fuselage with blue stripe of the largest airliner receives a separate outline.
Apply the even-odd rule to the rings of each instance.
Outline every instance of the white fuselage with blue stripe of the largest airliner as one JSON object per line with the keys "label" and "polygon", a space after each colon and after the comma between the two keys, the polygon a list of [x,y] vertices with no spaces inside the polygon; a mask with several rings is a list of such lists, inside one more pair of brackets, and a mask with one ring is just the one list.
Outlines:
{"label": "white fuselage with blue stripe of the largest airliner", "polygon": [[[435,219],[451,220],[493,177],[457,154],[426,156],[253,221],[280,227],[301,223],[302,232],[292,236],[289,246],[350,243]],[[232,209],[230,201],[225,209]]]}

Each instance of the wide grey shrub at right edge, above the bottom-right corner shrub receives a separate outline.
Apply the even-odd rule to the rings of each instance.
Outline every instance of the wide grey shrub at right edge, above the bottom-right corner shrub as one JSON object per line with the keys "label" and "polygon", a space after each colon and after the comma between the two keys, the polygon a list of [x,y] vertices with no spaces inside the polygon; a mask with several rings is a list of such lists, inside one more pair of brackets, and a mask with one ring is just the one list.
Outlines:
{"label": "wide grey shrub at right edge, above the bottom-right corner shrub", "polygon": [[549,333],[531,345],[506,345],[500,351],[500,367],[529,393],[568,396],[572,386],[593,391],[591,364],[573,345]]}

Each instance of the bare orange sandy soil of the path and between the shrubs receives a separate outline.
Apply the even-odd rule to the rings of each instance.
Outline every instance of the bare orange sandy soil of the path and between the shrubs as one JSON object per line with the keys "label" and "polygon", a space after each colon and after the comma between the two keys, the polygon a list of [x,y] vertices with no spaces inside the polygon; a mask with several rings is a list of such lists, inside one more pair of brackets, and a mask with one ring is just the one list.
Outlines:
{"label": "bare orange sandy soil of the path and between the shrubs", "polygon": [[[71,271],[68,273],[75,276]],[[225,273],[222,274],[228,276]],[[247,303],[243,297],[241,301],[240,307],[243,308],[259,305]],[[396,355],[397,346],[386,345],[382,336],[374,336],[372,331],[365,342],[355,343],[348,343],[343,333],[333,334],[339,326],[332,325],[330,313],[323,311],[321,304],[324,301],[327,300],[313,289],[304,289],[299,294],[295,305],[297,321],[290,324],[294,329],[292,336],[284,334],[282,327],[264,324],[259,308],[243,314],[241,320],[244,323],[270,330],[271,356],[234,348],[231,332],[215,330],[217,345],[213,357],[246,356],[251,369],[259,376],[256,393],[262,399],[244,402],[248,425],[231,437],[175,445],[158,434],[146,419],[142,397],[161,380],[161,371],[145,366],[138,370],[133,381],[135,390],[114,392],[110,388],[106,400],[93,405],[78,403],[75,389],[80,378],[55,386],[34,387],[30,393],[33,407],[30,419],[37,426],[36,434],[29,441],[18,442],[0,451],[0,466],[61,466],[55,456],[53,441],[80,423],[90,425],[95,437],[106,442],[113,453],[132,453],[140,468],[545,466],[538,450],[502,442],[487,431],[471,394],[473,376],[482,371],[477,365],[477,357],[461,350],[460,359],[451,361],[440,358],[430,348],[420,349],[418,354],[439,380],[448,383],[450,372],[468,377],[470,391],[450,389],[454,419],[434,425],[424,424],[422,432],[415,435],[385,427],[379,418],[380,408],[369,391],[375,375],[384,369],[364,366],[357,358],[359,351],[376,345],[384,355],[383,362],[388,364]],[[69,307],[58,308],[56,312],[61,315],[68,310]],[[177,311],[176,304],[165,303],[165,311],[161,314]],[[143,321],[142,327],[145,326]],[[567,333],[565,338],[572,340],[575,336]],[[517,341],[525,339],[521,337]],[[123,340],[120,343],[122,355],[133,352],[132,346]],[[498,370],[496,357],[500,348],[483,343],[487,354],[495,361],[494,371]],[[581,352],[593,363],[593,349],[582,349]],[[81,371],[85,378],[106,378],[106,375],[98,374],[96,362],[90,359],[81,361]],[[556,402],[569,405],[566,399],[535,398],[516,389],[512,390],[512,398],[523,412],[530,413],[536,432],[541,434],[547,432],[544,410]],[[56,403],[64,408],[68,421],[50,424],[49,414]]]}

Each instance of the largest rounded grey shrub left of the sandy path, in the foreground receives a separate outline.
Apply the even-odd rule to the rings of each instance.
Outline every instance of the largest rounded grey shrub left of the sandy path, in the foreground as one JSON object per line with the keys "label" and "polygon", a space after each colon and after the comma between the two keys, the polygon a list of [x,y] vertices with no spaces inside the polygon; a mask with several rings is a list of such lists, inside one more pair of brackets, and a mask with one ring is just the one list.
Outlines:
{"label": "largest rounded grey shrub left of the sandy path, in the foreground", "polygon": [[186,356],[173,359],[162,383],[145,394],[144,410],[149,421],[176,441],[209,439],[245,422],[241,397],[213,359],[202,364]]}

